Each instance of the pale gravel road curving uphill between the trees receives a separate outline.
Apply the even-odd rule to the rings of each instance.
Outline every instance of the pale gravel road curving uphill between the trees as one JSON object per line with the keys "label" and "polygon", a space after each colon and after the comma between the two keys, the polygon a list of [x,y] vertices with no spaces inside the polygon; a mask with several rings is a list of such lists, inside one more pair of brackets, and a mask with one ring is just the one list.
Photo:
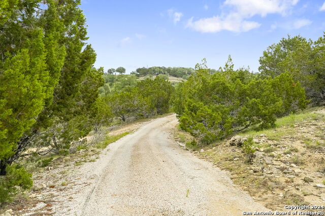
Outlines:
{"label": "pale gravel road curving uphill between the trees", "polygon": [[56,215],[242,215],[267,211],[224,171],[172,139],[175,115],[149,121],[75,174]]}

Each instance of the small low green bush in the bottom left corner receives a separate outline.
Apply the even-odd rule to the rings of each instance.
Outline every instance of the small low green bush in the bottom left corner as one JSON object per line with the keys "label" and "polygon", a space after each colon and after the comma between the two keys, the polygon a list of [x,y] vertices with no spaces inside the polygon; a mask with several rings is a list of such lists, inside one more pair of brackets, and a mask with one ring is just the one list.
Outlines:
{"label": "small low green bush in the bottom left corner", "polygon": [[32,187],[31,174],[19,165],[6,168],[7,175],[0,176],[0,203],[9,202],[19,189]]}

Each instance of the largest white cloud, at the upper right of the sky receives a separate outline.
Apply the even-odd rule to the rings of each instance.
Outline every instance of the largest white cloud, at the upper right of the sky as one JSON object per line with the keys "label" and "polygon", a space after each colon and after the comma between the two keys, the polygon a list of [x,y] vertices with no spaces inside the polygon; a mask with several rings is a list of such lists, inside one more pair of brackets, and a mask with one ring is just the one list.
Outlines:
{"label": "largest white cloud, at the upper right of the sky", "polygon": [[[228,30],[233,32],[249,31],[258,28],[261,24],[248,20],[255,15],[265,17],[268,14],[289,14],[290,9],[299,0],[225,0],[221,15],[202,18],[193,21],[189,19],[186,27],[199,32],[218,32]],[[227,12],[224,9],[230,8]]]}

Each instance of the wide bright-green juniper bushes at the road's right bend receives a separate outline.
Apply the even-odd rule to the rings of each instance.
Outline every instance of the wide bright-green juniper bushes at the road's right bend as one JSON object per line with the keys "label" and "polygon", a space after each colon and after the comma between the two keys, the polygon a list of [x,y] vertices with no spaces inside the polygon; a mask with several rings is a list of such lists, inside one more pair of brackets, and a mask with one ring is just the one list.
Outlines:
{"label": "wide bright-green juniper bushes at the road's right bend", "polygon": [[231,58],[210,74],[205,62],[180,83],[173,96],[180,127],[212,143],[233,132],[254,126],[275,126],[277,116],[306,107],[304,89],[291,76],[260,79],[247,69],[233,69]]}

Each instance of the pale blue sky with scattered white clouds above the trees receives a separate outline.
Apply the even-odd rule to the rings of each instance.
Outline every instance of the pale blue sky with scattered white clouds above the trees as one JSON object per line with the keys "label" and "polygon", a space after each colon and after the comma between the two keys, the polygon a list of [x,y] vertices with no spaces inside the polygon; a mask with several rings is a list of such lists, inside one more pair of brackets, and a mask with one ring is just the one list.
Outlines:
{"label": "pale blue sky with scattered white clouds above the trees", "polygon": [[258,71],[258,58],[287,34],[325,31],[324,0],[82,0],[95,67],[223,66]]}

